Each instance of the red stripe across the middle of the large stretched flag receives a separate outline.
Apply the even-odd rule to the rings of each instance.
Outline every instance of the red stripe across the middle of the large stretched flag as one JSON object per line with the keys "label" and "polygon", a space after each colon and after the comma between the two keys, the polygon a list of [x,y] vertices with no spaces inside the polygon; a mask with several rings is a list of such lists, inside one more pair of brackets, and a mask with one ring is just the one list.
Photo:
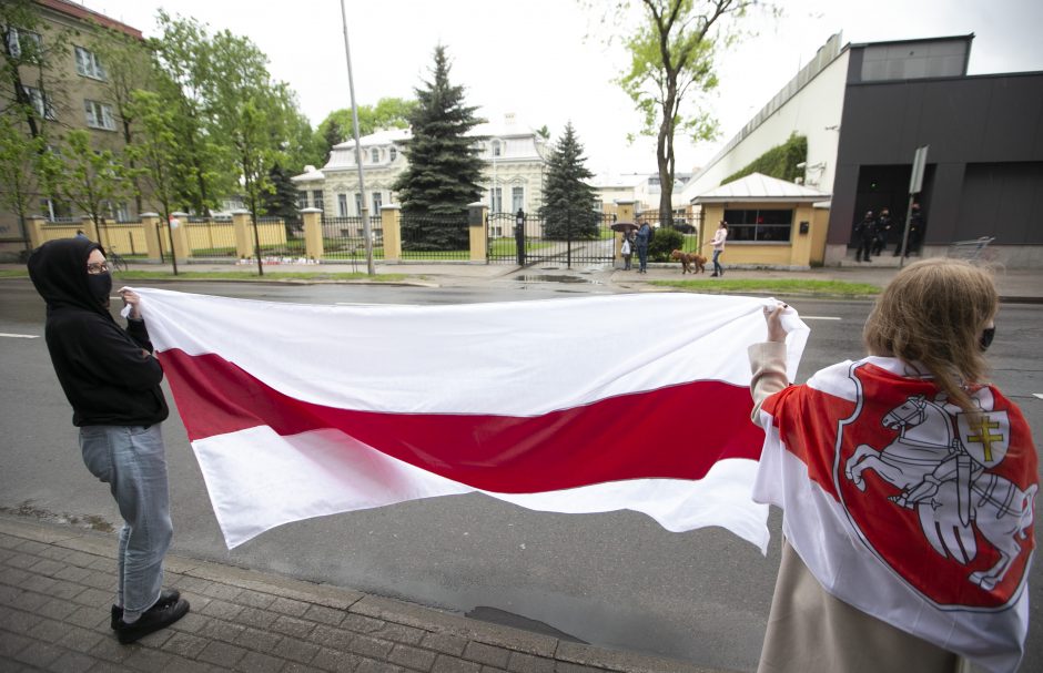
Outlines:
{"label": "red stripe across the middle of the large stretched flag", "polygon": [[528,493],[626,479],[701,479],[718,460],[760,458],[749,388],[693,381],[533,417],[394,414],[291,398],[217,355],[161,354],[192,440],[269,426],[334,428],[474,488]]}

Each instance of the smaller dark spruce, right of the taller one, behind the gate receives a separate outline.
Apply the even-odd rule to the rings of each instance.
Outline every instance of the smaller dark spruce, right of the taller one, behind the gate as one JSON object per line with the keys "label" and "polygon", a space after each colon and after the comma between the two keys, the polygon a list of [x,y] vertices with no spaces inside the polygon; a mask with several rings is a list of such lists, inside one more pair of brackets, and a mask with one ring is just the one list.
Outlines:
{"label": "smaller dark spruce, right of the taller one, behind the gate", "polygon": [[547,161],[544,184],[544,236],[547,238],[595,238],[598,213],[594,210],[594,187],[584,182],[594,176],[584,165],[583,145],[571,122]]}

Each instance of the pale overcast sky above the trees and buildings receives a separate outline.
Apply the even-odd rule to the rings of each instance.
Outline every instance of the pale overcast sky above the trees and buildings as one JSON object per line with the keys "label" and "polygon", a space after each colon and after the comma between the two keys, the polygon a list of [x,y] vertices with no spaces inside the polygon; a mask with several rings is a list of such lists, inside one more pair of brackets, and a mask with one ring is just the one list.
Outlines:
{"label": "pale overcast sky above the trees and buildings", "polygon": [[[296,92],[318,124],[351,105],[340,0],[85,0],[87,7],[155,35],[156,9],[194,17],[212,30],[249,37],[270,59],[273,78]],[[427,78],[436,44],[453,62],[450,81],[467,102],[502,121],[514,112],[556,139],[569,120],[596,173],[654,172],[655,141],[627,143],[639,129],[630,100],[612,83],[626,67],[618,43],[597,34],[600,6],[577,0],[345,0],[355,96],[412,98]],[[974,33],[969,72],[1043,70],[1043,2],[1039,0],[786,0],[784,16],[746,22],[757,34],[721,54],[719,89],[707,104],[721,136],[679,142],[687,171],[716,154],[774,93],[842,31],[844,43]],[[588,37],[593,35],[593,37]]]}

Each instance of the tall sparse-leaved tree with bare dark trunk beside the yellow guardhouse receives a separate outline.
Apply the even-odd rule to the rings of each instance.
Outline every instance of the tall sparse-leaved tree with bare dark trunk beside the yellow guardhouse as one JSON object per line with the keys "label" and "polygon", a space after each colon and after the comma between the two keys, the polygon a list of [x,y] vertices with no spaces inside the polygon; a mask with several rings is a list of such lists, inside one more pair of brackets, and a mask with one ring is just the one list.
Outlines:
{"label": "tall sparse-leaved tree with bare dark trunk beside the yellow guardhouse", "polygon": [[717,135],[717,123],[700,105],[700,94],[717,86],[716,48],[736,37],[726,32],[726,20],[745,16],[758,0],[641,0],[641,4],[644,22],[625,39],[630,68],[617,82],[644,118],[641,134],[656,137],[659,222],[670,226],[674,140],[678,133],[696,142]]}

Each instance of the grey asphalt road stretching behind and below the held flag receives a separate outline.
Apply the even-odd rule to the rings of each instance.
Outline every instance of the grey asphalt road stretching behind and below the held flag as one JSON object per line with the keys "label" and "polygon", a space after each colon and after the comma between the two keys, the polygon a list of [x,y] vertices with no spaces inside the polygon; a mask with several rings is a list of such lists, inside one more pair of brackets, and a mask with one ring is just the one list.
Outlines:
{"label": "grey asphalt road stretching behind and below the held flag", "polygon": [[[156,284],[160,285],[160,284]],[[485,287],[162,284],[171,289],[301,303],[444,304],[611,292],[590,285]],[[865,302],[793,298],[812,328],[799,380],[861,353]],[[28,281],[0,281],[0,509],[78,524],[115,524],[108,489],[83,468],[71,411],[42,340],[43,309]],[[991,349],[994,380],[1043,437],[1043,306],[1005,305]],[[168,396],[172,402],[172,397]],[[272,570],[563,632],[601,645],[707,666],[756,667],[779,562],[772,510],[764,558],[721,530],[670,533],[632,512],[533,512],[457,496],[297,522],[229,552],[180,419],[164,425],[179,553]],[[1043,570],[1032,579],[1035,619],[1023,671],[1043,670]]]}

